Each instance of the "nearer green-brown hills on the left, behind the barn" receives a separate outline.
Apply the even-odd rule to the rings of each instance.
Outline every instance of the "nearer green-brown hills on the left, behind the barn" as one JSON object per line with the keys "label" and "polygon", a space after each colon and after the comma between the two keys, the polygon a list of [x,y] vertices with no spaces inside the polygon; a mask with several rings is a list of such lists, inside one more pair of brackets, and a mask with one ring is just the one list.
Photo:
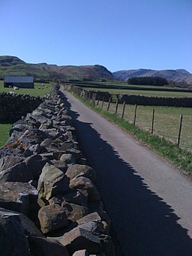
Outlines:
{"label": "nearer green-brown hills on the left, behind the barn", "polygon": [[27,75],[39,79],[79,78],[113,80],[113,74],[101,65],[58,66],[46,63],[29,64],[14,56],[0,56],[0,78],[5,75]]}

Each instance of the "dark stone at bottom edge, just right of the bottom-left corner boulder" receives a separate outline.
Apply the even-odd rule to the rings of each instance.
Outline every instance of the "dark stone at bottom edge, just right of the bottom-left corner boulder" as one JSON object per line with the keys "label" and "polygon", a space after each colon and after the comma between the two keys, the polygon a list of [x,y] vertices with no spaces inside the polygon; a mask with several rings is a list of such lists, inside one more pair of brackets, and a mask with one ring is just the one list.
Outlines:
{"label": "dark stone at bottom edge, just right of the bottom-left corner boulder", "polygon": [[33,256],[69,256],[67,248],[55,239],[29,236]]}

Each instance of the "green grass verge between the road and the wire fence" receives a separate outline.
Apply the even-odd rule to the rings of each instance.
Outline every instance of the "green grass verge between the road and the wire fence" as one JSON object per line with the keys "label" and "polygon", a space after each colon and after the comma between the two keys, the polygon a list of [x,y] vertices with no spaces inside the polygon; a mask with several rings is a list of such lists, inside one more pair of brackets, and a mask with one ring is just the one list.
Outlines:
{"label": "green grass verge between the road and the wire fence", "polygon": [[[72,92],[73,93],[73,92]],[[135,125],[126,122],[124,119],[120,119],[113,113],[108,113],[105,110],[101,110],[99,107],[95,107],[89,101],[86,101],[85,98],[80,98],[78,95],[73,95],[80,99],[86,106],[92,108],[96,112],[100,113],[102,116],[110,120],[111,122],[117,124],[119,127],[123,128],[124,131],[127,131],[129,134],[136,137],[136,139],[141,140],[142,143],[149,146],[154,152],[157,152],[167,160],[169,160],[176,167],[181,168],[186,173],[192,174],[192,153],[187,150],[178,148],[177,145],[171,144],[166,140],[163,140],[159,137],[151,135],[147,131],[142,131],[140,128],[137,128]]]}

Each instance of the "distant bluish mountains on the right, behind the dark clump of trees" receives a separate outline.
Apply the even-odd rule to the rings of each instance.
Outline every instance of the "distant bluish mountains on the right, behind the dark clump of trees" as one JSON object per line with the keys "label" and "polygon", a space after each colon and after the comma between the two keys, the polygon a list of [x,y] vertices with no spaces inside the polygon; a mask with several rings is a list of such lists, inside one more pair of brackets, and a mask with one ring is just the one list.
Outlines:
{"label": "distant bluish mountains on the right, behind the dark clump of trees", "polygon": [[133,69],[127,71],[116,71],[113,73],[116,80],[127,80],[130,77],[163,77],[175,83],[185,82],[192,84],[192,74],[184,69],[155,71],[151,69]]}

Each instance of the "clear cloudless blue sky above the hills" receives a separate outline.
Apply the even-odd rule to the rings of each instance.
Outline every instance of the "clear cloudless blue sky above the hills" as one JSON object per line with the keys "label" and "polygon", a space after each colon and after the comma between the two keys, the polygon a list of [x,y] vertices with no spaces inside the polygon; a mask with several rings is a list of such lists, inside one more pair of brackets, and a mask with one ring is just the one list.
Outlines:
{"label": "clear cloudless blue sky above the hills", "polygon": [[192,0],[0,0],[0,55],[192,73]]}

